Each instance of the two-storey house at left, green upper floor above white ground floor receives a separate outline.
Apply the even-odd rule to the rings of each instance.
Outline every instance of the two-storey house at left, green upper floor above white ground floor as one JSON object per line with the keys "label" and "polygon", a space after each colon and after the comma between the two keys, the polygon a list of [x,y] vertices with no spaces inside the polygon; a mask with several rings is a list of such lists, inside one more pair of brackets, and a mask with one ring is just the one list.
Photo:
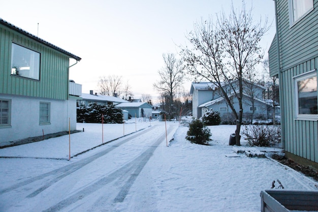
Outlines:
{"label": "two-storey house at left, green upper floor above white ground floor", "polygon": [[0,146],[76,130],[82,88],[69,82],[70,58],[81,60],[0,18]]}

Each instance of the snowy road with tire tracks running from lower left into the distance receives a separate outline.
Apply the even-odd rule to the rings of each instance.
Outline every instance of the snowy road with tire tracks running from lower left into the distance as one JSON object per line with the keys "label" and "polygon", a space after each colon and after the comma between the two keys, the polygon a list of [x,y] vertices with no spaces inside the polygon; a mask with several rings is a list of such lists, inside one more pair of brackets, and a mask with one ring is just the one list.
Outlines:
{"label": "snowy road with tire tracks running from lower left into the distance", "polygon": [[[177,127],[169,123],[168,133],[173,134]],[[166,145],[164,128],[163,123],[154,125],[76,157],[65,166],[21,179],[0,190],[0,210],[115,211],[157,146]]]}

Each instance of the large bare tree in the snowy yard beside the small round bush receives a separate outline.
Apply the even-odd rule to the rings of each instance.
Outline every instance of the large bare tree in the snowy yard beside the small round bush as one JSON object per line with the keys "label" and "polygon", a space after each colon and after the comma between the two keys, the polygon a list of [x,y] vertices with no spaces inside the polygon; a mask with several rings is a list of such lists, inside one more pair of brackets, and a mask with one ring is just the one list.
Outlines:
{"label": "large bare tree in the snowy yard beside the small round bush", "polygon": [[[246,11],[244,2],[239,12],[232,4],[228,17],[221,12],[215,24],[210,17],[194,25],[194,31],[187,36],[192,49],[180,46],[188,73],[216,85],[230,106],[236,118],[236,145],[240,145],[243,117],[243,76],[247,68],[262,59],[264,53],[259,42],[268,30],[267,21],[264,25],[261,21],[253,23],[251,10]],[[237,86],[232,85],[234,80]],[[230,94],[225,87],[231,89]],[[231,96],[237,99],[239,111],[235,110]]]}

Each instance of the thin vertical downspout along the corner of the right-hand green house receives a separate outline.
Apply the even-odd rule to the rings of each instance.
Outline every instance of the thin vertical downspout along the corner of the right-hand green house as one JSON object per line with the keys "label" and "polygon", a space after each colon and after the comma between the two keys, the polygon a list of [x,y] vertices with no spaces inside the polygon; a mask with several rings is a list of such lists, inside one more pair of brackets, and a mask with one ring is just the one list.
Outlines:
{"label": "thin vertical downspout along the corner of the right-hand green house", "polygon": [[[281,79],[281,67],[280,67],[280,44],[279,44],[279,32],[278,32],[278,11],[277,11],[277,0],[275,2],[275,22],[276,22],[276,47],[277,47],[277,68],[278,68],[278,87],[279,87],[279,106],[283,108],[282,100],[282,79]],[[275,118],[275,117],[273,117]],[[284,139],[284,110],[280,109],[280,138],[283,148],[285,149],[285,139]]]}

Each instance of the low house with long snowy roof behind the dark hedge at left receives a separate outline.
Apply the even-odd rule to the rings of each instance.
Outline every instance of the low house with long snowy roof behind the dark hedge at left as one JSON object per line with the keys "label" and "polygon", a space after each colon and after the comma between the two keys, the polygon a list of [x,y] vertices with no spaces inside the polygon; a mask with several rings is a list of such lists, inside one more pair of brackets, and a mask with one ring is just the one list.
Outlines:
{"label": "low house with long snowy roof behind the dark hedge at left", "polygon": [[102,105],[117,105],[119,103],[129,102],[118,97],[111,97],[105,95],[98,95],[97,93],[93,93],[93,90],[89,91],[89,94],[81,94],[81,100],[78,100],[78,105],[86,105],[88,106],[89,103],[98,103]]}

